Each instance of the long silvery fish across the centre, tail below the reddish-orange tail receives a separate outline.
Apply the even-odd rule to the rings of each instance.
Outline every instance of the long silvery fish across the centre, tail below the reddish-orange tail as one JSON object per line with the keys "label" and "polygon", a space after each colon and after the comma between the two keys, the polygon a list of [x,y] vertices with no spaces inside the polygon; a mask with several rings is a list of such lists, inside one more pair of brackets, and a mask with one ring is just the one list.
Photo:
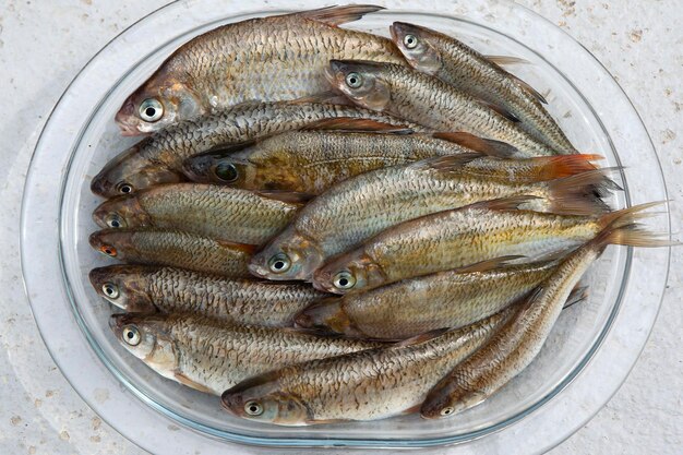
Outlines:
{"label": "long silvery fish across the centre, tail below the reddish-orange tail", "polygon": [[498,197],[539,196],[528,199],[525,208],[555,213],[595,215],[609,209],[584,191],[603,182],[606,170],[550,182],[510,184],[463,170],[463,164],[480,156],[428,158],[339,182],[299,211],[285,230],[254,254],[249,270],[261,278],[308,279],[329,258],[391,226]]}

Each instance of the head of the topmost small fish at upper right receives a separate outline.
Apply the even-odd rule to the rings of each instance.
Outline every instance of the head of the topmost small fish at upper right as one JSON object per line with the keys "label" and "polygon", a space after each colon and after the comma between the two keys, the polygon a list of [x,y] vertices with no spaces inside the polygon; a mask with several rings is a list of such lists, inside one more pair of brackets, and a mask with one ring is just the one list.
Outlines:
{"label": "head of the topmost small fish at upper right", "polygon": [[427,74],[435,74],[443,62],[433,43],[435,32],[405,22],[394,22],[390,27],[392,39],[410,67]]}

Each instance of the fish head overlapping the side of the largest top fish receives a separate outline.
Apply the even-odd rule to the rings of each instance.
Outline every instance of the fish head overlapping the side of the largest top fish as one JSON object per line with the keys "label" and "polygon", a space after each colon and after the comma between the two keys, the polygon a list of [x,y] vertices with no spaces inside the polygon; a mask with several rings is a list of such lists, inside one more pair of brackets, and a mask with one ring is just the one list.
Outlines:
{"label": "fish head overlapping the side of the largest top fish", "polygon": [[360,107],[385,110],[392,99],[384,63],[364,60],[331,60],[327,81]]}

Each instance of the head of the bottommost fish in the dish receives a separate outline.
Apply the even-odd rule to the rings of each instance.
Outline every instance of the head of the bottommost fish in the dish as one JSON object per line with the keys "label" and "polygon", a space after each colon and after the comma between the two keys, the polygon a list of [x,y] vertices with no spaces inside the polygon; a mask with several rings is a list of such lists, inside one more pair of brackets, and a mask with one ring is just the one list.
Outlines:
{"label": "head of the bottommost fish in the dish", "polygon": [[242,381],[225,391],[220,402],[231,414],[262,423],[302,426],[312,420],[298,396],[280,390],[278,371]]}

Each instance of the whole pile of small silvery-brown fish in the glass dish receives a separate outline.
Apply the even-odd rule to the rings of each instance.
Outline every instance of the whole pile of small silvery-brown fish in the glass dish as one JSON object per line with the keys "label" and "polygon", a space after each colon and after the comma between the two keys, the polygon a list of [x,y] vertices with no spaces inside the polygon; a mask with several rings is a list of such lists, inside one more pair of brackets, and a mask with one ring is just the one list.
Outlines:
{"label": "whole pile of small silvery-brown fish in the glass dish", "polygon": [[[284,426],[454,416],[541,349],[608,244],[669,244],[611,211],[614,169],[543,96],[380,10],[253,19],[180,47],[124,101],[146,134],[93,179],[89,278],[165,378]],[[568,302],[568,303],[567,303]]]}

